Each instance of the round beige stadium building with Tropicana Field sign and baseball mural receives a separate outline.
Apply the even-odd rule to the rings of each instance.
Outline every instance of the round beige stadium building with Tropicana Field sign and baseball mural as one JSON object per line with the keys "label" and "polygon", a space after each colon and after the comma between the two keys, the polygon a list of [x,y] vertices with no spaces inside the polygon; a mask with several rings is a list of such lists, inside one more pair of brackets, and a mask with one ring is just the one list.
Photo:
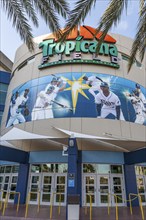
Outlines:
{"label": "round beige stadium building with Tropicana Field sign and baseball mural", "polygon": [[33,53],[17,49],[2,120],[3,196],[16,190],[23,204],[33,192],[37,204],[40,191],[49,205],[57,192],[64,206],[79,195],[81,206],[91,196],[102,207],[108,193],[119,206],[140,193],[146,204],[145,63],[136,57],[127,72],[133,41],[118,34],[106,35],[97,56],[94,33],[81,26],[64,44],[48,34],[34,39]]}

